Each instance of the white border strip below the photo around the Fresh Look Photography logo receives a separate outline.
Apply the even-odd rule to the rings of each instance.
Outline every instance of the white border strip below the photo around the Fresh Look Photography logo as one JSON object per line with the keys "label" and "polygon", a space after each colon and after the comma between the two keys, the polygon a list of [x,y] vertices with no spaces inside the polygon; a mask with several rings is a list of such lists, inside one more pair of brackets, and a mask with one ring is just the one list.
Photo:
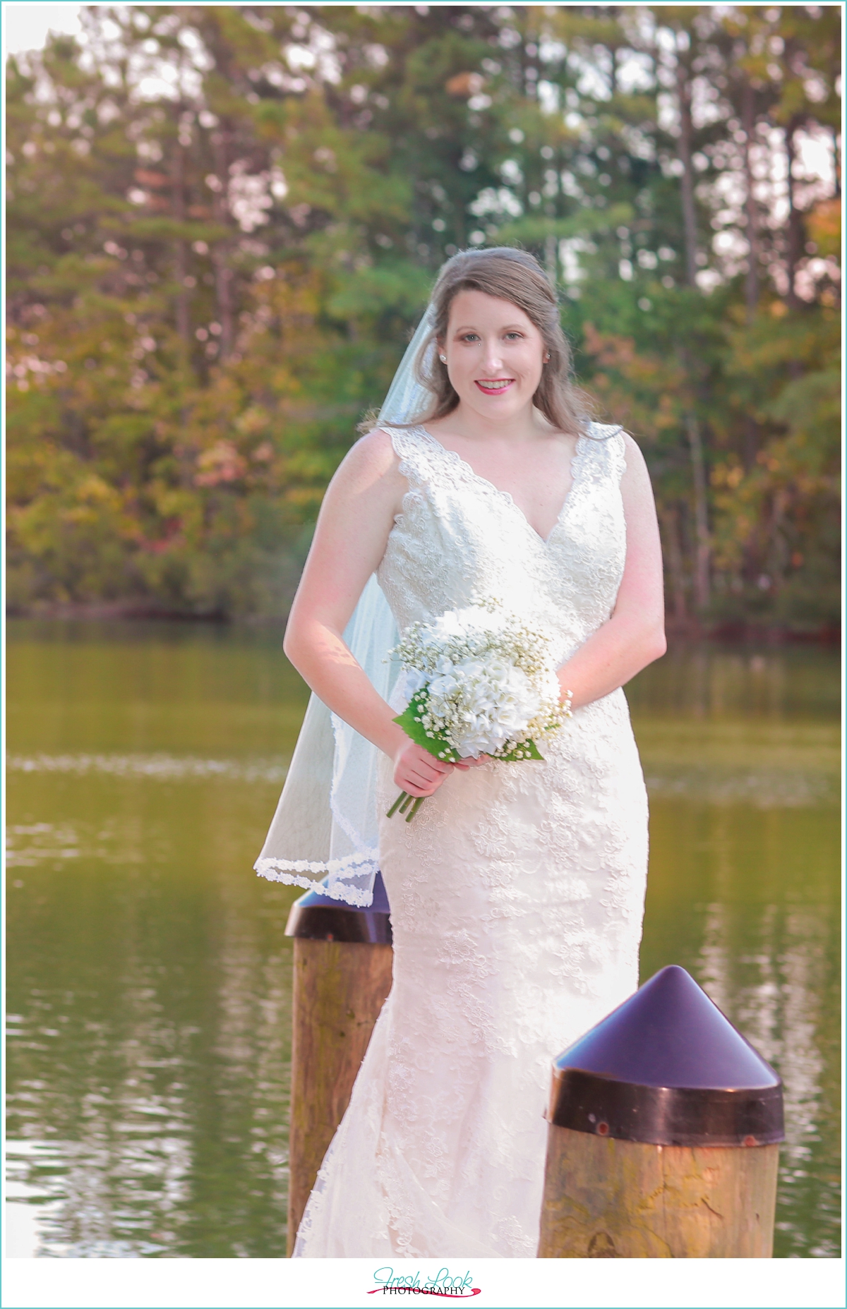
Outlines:
{"label": "white border strip below the photo around the Fresh Look Photography logo", "polygon": [[[29,0],[33,4],[33,0]],[[34,0],[37,4],[38,0]],[[153,0],[156,3],[156,0]],[[177,0],[177,4],[186,0]],[[200,0],[209,3],[209,0]],[[322,0],[327,8],[348,0]],[[399,0],[412,4],[414,0]],[[432,3],[432,0],[431,0]],[[436,4],[449,0],[435,0]],[[525,0],[512,0],[524,8]],[[770,0],[762,0],[770,3]],[[827,8],[831,5],[827,4]],[[7,5],[0,0],[0,8]],[[630,5],[635,8],[635,5]],[[839,5],[843,8],[843,5]],[[4,24],[5,26],[5,24]],[[5,55],[5,39],[3,42]],[[5,65],[5,59],[4,59]],[[842,110],[842,140],[844,117]],[[3,120],[5,158],[5,118]],[[5,178],[0,182],[5,212]],[[843,267],[842,249],[842,267]],[[5,255],[3,255],[5,274]],[[3,284],[5,308],[5,279]],[[843,394],[843,374],[842,374]],[[5,431],[5,399],[3,403]],[[5,453],[5,452],[4,452]],[[5,488],[5,461],[3,467]],[[5,501],[4,501],[5,503]],[[5,516],[4,516],[5,522]],[[842,530],[847,516],[842,508]],[[842,541],[844,538],[842,537]],[[0,545],[5,565],[5,550]],[[5,579],[5,571],[4,571]],[[5,585],[4,585],[5,597]],[[844,613],[842,592],[842,618]],[[0,617],[5,649],[5,613]],[[842,683],[844,678],[842,637]],[[5,704],[5,660],[3,668]],[[844,729],[842,707],[842,730]],[[4,733],[5,745],[5,733]],[[842,764],[843,768],[843,764]],[[844,772],[842,771],[842,784]],[[843,792],[842,792],[843,793]],[[5,801],[5,768],[3,767]],[[5,806],[4,806],[5,810]],[[842,822],[842,868],[844,826]],[[5,873],[5,867],[4,867]],[[5,942],[3,944],[5,994]],[[842,963],[842,984],[844,963]],[[842,1011],[843,1031],[843,1011]],[[843,1118],[843,1114],[842,1114]],[[5,1138],[4,1138],[5,1140]],[[842,1164],[843,1169],[843,1164]],[[843,1178],[842,1178],[843,1179]],[[397,1261],[398,1275],[427,1276],[439,1261]],[[479,1295],[475,1305],[488,1309],[846,1309],[844,1258],[788,1261],[588,1261],[478,1259],[444,1261],[450,1271],[473,1272]],[[632,1263],[632,1267],[630,1267]],[[460,1267],[462,1264],[462,1267]],[[439,1305],[435,1296],[386,1296],[368,1292],[378,1259],[3,1259],[1,1309],[347,1309],[376,1306],[386,1300]],[[432,1266],[432,1267],[431,1267]],[[446,1297],[445,1297],[446,1299]]]}

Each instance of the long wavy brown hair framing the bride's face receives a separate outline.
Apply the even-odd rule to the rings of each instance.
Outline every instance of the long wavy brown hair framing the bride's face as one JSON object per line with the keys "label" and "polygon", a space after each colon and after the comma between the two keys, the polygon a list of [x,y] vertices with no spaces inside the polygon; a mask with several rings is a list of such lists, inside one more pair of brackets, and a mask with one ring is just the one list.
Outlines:
{"label": "long wavy brown hair framing the bride's face", "polygon": [[571,351],[559,322],[555,291],[538,260],[512,246],[460,250],[441,268],[432,292],[432,332],[415,360],[418,381],[433,395],[424,420],[445,418],[458,404],[448,370],[440,361],[437,350],[429,347],[433,340],[445,339],[450,305],[460,291],[482,291],[486,296],[508,300],[524,310],[541,332],[545,352],[550,355],[533,403],[556,431],[579,433],[589,418],[589,402],[571,380]]}

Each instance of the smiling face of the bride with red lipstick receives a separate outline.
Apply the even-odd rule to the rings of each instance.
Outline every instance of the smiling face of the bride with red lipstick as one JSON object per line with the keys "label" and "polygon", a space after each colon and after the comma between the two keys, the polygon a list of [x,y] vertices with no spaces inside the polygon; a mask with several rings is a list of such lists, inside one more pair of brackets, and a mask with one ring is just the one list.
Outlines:
{"label": "smiling face of the bride with red lipstick", "polygon": [[462,404],[509,419],[532,406],[546,351],[535,325],[511,300],[460,291],[439,353],[446,355],[442,367]]}

